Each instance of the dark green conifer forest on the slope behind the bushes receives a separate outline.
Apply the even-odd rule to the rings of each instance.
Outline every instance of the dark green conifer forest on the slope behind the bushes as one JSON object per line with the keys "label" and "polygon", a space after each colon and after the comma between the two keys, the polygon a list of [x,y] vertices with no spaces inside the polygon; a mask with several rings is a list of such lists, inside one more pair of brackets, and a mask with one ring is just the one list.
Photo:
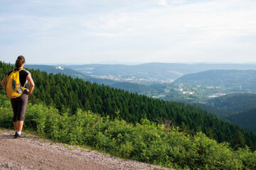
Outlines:
{"label": "dark green conifer forest on the slope behind the bushes", "polygon": [[[0,62],[1,79],[12,68],[12,65]],[[180,126],[192,134],[202,131],[218,142],[230,142],[233,147],[245,144],[253,147],[256,142],[256,136],[252,132],[194,106],[130,94],[62,74],[47,74],[33,69],[29,71],[36,84],[30,101],[54,106],[60,113],[68,112],[73,115],[80,108],[102,116],[110,115],[110,118],[119,117],[129,123],[138,123],[142,118],[159,123],[168,120],[169,124]],[[4,94],[3,89],[1,93]]]}

